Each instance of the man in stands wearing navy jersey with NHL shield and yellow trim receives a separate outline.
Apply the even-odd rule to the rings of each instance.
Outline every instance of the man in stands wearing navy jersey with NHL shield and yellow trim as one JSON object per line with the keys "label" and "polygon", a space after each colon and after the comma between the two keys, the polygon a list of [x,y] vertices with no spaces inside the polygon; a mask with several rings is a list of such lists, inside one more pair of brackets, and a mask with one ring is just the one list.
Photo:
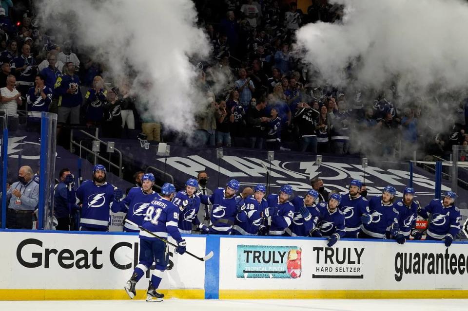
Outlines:
{"label": "man in stands wearing navy jersey with NHL shield and yellow trim", "polygon": [[66,64],[66,73],[59,76],[54,86],[54,93],[59,96],[59,115],[57,123],[79,124],[79,110],[82,102],[81,84],[75,74],[75,65]]}

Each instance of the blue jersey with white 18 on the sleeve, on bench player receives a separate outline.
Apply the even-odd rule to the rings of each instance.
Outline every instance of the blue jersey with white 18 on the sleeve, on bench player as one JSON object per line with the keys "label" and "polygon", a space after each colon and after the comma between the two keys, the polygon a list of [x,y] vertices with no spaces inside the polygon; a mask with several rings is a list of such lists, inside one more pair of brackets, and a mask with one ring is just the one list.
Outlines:
{"label": "blue jersey with white 18 on the sleeve, on bench player", "polygon": [[261,213],[268,207],[267,201],[262,199],[260,203],[255,200],[254,196],[249,196],[244,200],[245,211],[247,212],[247,220],[236,220],[233,227],[234,235],[254,236],[258,233],[258,229],[262,223]]}

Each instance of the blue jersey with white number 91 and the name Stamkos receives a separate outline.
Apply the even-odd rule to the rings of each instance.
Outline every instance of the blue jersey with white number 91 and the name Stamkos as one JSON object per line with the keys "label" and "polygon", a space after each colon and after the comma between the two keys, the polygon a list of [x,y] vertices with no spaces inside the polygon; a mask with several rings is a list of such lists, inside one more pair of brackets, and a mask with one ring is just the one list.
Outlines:
{"label": "blue jersey with white number 91 and the name Stamkos", "polygon": [[[146,210],[145,218],[141,227],[153,232],[160,238],[167,238],[168,233],[176,241],[181,240],[177,222],[179,221],[179,208],[165,198],[158,198],[150,203]],[[140,230],[139,238],[145,240],[156,240],[153,235]]]}

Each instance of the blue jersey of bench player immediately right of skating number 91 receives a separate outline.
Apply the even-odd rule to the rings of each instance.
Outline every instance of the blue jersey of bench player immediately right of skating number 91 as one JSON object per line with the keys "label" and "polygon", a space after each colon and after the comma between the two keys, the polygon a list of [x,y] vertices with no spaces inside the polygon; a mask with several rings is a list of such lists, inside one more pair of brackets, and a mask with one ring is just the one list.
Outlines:
{"label": "blue jersey of bench player immediately right of skating number 91", "polygon": [[192,223],[195,226],[200,224],[200,220],[196,217],[196,215],[198,215],[198,209],[200,208],[200,198],[195,195],[192,195],[190,198],[187,192],[179,191],[172,202],[179,208],[179,232],[191,234]]}

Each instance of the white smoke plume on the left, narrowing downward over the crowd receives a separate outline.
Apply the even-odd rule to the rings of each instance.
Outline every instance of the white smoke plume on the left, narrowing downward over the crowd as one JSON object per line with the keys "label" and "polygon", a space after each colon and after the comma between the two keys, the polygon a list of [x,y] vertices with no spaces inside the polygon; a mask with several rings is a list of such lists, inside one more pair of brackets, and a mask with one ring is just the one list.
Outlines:
{"label": "white smoke plume on the left, narrowing downward over the crowd", "polygon": [[[93,51],[90,56],[104,63],[106,76],[118,81],[131,68],[133,91],[149,102],[146,109],[139,107],[142,113],[176,131],[194,126],[204,95],[189,59],[206,57],[210,45],[195,25],[191,0],[46,0],[37,9],[43,24],[62,20],[64,27],[55,31],[65,38],[75,20],[76,45]],[[64,16],[70,19],[63,21]]]}

